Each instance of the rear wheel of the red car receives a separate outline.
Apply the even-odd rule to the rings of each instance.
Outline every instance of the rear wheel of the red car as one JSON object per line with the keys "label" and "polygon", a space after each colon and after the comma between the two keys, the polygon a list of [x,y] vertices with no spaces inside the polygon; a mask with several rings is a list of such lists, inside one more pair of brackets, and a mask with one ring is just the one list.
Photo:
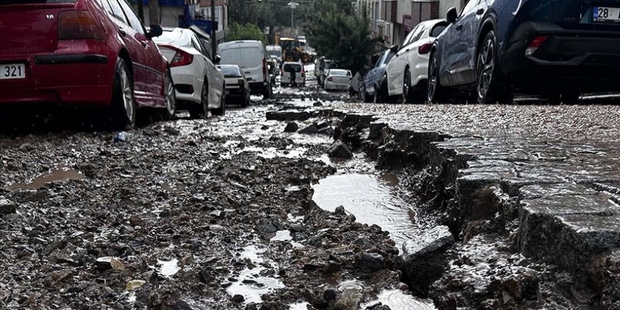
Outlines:
{"label": "rear wheel of the red car", "polygon": [[136,101],[132,78],[123,58],[116,59],[110,118],[114,128],[132,128],[136,120]]}

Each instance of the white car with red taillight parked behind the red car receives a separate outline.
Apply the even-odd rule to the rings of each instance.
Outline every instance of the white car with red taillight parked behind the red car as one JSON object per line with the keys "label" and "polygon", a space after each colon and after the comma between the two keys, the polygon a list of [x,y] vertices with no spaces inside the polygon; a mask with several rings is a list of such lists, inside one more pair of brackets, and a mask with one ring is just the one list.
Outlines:
{"label": "white car with red taillight parked behind the red car", "polygon": [[[210,46],[183,28],[164,28],[154,41],[170,63],[180,106],[187,108],[192,118],[208,116],[209,110],[213,115],[224,115],[224,75],[211,61]],[[214,62],[218,62],[217,56]]]}

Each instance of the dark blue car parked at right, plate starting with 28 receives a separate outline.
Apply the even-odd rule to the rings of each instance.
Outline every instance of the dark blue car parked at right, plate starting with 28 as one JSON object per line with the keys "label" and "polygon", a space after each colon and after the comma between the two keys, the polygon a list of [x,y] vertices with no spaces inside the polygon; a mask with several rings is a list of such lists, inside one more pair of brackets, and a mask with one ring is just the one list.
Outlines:
{"label": "dark blue car parked at right, plate starting with 28", "polygon": [[428,99],[447,88],[481,104],[512,102],[512,89],[573,103],[620,85],[620,2],[470,0],[430,52]]}

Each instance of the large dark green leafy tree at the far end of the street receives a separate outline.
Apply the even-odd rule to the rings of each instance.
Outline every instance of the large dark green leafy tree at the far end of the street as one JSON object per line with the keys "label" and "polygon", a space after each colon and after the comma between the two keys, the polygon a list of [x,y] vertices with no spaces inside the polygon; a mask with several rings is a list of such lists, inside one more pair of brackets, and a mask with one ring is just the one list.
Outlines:
{"label": "large dark green leafy tree at the far end of the street", "polygon": [[375,48],[364,8],[350,0],[316,0],[308,8],[304,30],[316,52],[354,72],[364,69]]}

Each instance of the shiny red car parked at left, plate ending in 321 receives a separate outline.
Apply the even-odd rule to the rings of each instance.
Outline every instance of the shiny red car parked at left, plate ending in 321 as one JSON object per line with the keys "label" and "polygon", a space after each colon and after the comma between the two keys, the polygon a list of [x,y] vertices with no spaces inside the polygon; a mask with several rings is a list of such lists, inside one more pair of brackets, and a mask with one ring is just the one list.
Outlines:
{"label": "shiny red car parked at left, plate ending in 321", "polygon": [[168,61],[125,0],[0,1],[0,105],[100,106],[118,127],[137,108],[175,112]]}

